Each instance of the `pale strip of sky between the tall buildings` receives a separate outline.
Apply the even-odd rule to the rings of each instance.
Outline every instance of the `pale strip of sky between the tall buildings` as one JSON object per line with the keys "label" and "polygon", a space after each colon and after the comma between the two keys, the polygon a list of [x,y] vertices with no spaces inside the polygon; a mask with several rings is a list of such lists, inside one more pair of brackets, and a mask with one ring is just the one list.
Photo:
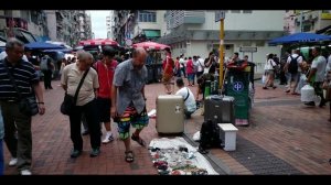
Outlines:
{"label": "pale strip of sky between the tall buildings", "polygon": [[95,39],[107,39],[106,17],[109,17],[110,11],[89,11],[89,13]]}

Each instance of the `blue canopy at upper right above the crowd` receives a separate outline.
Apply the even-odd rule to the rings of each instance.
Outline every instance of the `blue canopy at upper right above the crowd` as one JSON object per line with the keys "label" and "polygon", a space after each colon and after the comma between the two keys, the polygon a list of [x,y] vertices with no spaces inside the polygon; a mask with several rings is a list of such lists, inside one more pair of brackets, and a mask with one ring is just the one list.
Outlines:
{"label": "blue canopy at upper right above the crowd", "polygon": [[309,42],[320,42],[320,41],[331,41],[331,36],[314,34],[314,33],[295,33],[291,35],[281,36],[273,41],[269,41],[269,44],[277,45],[277,44],[309,43]]}

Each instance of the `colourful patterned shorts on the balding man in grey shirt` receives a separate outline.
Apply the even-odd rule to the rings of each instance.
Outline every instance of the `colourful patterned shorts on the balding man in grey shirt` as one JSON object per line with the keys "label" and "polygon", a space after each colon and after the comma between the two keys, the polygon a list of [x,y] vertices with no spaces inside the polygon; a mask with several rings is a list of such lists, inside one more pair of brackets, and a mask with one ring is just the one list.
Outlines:
{"label": "colourful patterned shorts on the balding man in grey shirt", "polygon": [[114,119],[118,126],[119,139],[126,140],[130,134],[130,124],[136,129],[142,129],[148,126],[149,117],[146,108],[140,113],[132,106],[128,106],[125,112]]}

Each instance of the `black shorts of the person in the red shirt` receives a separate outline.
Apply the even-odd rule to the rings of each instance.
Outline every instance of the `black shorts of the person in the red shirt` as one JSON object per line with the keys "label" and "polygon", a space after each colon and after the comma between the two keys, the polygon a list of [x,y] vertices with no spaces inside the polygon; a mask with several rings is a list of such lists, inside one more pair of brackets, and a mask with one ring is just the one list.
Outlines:
{"label": "black shorts of the person in the red shirt", "polygon": [[111,100],[109,98],[97,98],[99,122],[110,122]]}

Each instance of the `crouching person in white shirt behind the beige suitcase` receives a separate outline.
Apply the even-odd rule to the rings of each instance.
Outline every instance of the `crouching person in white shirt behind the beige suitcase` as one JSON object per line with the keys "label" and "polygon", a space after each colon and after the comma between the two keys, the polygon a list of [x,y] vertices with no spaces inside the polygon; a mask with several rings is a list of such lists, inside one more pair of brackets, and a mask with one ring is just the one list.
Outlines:
{"label": "crouching person in white shirt behind the beige suitcase", "polygon": [[175,95],[180,95],[184,98],[184,104],[185,104],[184,113],[186,119],[190,119],[191,115],[196,110],[196,102],[193,92],[190,90],[190,88],[184,86],[184,81],[182,78],[178,78],[175,80],[175,84],[177,87],[179,88]]}

